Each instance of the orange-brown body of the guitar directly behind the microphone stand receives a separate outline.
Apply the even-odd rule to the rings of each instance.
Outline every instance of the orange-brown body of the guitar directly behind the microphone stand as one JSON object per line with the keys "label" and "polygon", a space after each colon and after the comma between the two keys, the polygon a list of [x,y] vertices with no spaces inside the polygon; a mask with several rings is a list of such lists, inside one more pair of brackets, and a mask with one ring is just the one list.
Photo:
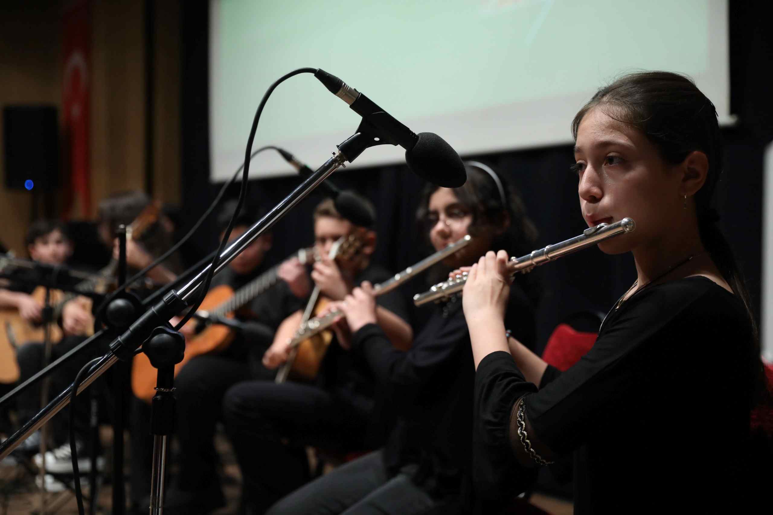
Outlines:
{"label": "orange-brown body of the guitar directly behind the microphone stand", "polygon": [[[233,288],[227,285],[216,286],[209,290],[204,297],[199,311],[209,311],[216,309],[217,306],[226,302],[233,296]],[[226,315],[233,318],[233,313]],[[189,324],[196,324],[196,321],[190,321]],[[185,367],[186,364],[196,356],[202,354],[218,353],[226,349],[233,340],[233,331],[226,326],[213,324],[206,327],[201,333],[186,339],[186,353],[182,361],[175,365],[175,377]],[[131,391],[135,396],[143,401],[150,402],[155,395],[155,380],[157,370],[153,368],[148,360],[148,356],[139,353],[135,356],[131,367]]]}

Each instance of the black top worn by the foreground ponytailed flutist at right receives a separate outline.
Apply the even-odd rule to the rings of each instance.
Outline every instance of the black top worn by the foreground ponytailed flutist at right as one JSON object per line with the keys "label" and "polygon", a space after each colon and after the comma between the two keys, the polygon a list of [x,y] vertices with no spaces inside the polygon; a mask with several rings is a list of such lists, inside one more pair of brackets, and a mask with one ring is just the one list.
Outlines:
{"label": "black top worn by the foreground ponytailed flutist at right", "polygon": [[496,498],[530,481],[513,453],[513,407],[526,395],[530,441],[574,452],[574,513],[741,506],[755,359],[743,304],[703,277],[629,298],[582,360],[564,373],[548,367],[539,390],[509,353],[491,353],[475,378],[477,493]]}

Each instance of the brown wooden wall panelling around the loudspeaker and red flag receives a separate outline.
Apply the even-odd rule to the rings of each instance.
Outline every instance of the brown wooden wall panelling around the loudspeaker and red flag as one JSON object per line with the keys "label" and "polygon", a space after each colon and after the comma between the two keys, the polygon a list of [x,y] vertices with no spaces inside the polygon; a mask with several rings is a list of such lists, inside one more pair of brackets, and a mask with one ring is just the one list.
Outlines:
{"label": "brown wooden wall panelling around the loudspeaker and red flag", "polygon": [[[146,186],[146,6],[152,11],[152,161],[150,185],[180,200],[180,0],[90,2],[90,185],[101,199]],[[61,107],[62,0],[0,2],[0,104]],[[60,116],[61,118],[61,116]],[[2,120],[0,120],[2,137]],[[2,147],[2,145],[0,145]],[[0,181],[4,181],[0,148]],[[22,250],[32,196],[0,182],[0,240]],[[63,191],[56,193],[59,212]]]}

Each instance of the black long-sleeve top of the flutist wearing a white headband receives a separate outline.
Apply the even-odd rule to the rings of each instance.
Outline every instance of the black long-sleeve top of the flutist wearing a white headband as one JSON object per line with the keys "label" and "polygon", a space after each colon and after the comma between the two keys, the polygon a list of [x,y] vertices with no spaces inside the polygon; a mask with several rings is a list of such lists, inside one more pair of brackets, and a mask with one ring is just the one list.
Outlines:
{"label": "black long-sleeve top of the flutist wearing a white headband", "polygon": [[[533,308],[517,286],[506,319],[518,328],[516,337],[533,342]],[[384,449],[387,468],[418,463],[414,481],[438,496],[470,488],[475,366],[461,298],[435,306],[407,352],[375,324],[352,336],[352,351],[369,364],[377,394],[397,418]]]}

